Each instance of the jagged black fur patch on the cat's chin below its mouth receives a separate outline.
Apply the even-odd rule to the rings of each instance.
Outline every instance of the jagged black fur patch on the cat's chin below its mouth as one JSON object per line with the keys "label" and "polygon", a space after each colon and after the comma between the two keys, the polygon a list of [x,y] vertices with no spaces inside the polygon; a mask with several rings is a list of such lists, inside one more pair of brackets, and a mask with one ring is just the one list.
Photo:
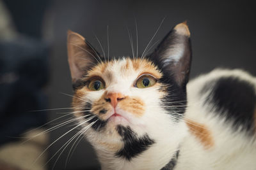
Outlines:
{"label": "jagged black fur patch on the cat's chin below its mouth", "polygon": [[132,131],[131,127],[124,127],[118,125],[116,131],[122,140],[124,141],[124,148],[116,153],[117,157],[123,157],[127,160],[131,160],[133,157],[138,156],[140,153],[147,150],[151,145],[155,143],[153,139],[150,139],[148,134],[138,138],[137,134]]}

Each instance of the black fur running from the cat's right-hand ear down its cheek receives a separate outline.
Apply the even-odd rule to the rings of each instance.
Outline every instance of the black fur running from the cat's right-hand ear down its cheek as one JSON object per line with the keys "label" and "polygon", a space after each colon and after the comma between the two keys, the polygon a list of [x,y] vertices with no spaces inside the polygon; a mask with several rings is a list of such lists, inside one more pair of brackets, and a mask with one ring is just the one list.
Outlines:
{"label": "black fur running from the cat's right-hand ear down its cheek", "polygon": [[[184,52],[179,61],[172,59],[170,53],[175,44],[184,45],[180,47]],[[166,57],[167,55],[170,56]],[[161,99],[161,106],[165,106],[164,109],[179,122],[183,118],[187,104],[186,84],[189,80],[192,59],[190,38],[177,34],[177,31],[172,29],[147,58],[163,73],[159,83],[167,85],[167,89],[165,87],[159,89],[166,92],[166,96]]]}

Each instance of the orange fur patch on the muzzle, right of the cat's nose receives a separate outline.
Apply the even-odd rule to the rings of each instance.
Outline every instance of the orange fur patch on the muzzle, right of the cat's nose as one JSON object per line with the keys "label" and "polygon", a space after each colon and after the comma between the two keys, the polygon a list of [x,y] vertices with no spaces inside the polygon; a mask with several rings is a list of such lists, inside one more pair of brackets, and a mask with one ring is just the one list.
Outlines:
{"label": "orange fur patch on the muzzle, right of the cat's nose", "polygon": [[138,97],[125,97],[122,101],[118,103],[118,106],[122,110],[128,111],[134,114],[136,117],[141,117],[145,112],[145,104]]}

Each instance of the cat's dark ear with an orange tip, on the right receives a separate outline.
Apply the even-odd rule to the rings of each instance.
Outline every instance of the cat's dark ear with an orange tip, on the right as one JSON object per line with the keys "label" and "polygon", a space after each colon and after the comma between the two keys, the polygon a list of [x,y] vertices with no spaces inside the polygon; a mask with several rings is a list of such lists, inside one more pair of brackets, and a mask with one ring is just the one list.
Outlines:
{"label": "cat's dark ear with an orange tip, on the right", "polygon": [[176,25],[152,53],[164,73],[172,74],[178,85],[184,87],[189,79],[191,66],[190,32],[186,22]]}

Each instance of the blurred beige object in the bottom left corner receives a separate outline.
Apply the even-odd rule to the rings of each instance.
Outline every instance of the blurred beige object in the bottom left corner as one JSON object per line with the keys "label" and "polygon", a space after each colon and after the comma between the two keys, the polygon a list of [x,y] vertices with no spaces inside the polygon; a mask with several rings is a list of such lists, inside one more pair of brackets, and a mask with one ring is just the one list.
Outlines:
{"label": "blurred beige object in the bottom left corner", "polygon": [[[33,169],[45,170],[45,162],[47,162],[47,155],[42,155],[38,160],[35,159],[44,152],[45,146],[49,141],[48,134],[36,136],[43,130],[29,131],[22,136],[21,141],[8,143],[0,147],[0,170],[5,169]],[[33,138],[33,136],[36,136]],[[26,141],[27,139],[30,139]],[[8,168],[8,169],[7,169]]]}

